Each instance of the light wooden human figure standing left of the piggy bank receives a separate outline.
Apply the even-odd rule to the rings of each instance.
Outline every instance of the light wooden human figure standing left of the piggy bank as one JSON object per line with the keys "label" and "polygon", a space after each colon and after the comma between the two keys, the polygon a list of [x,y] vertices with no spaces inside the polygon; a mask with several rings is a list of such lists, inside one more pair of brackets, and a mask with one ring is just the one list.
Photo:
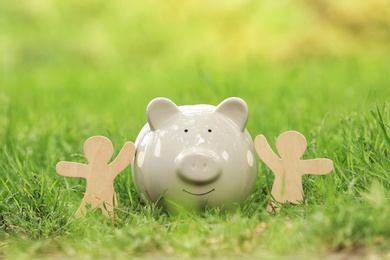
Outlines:
{"label": "light wooden human figure standing left of the piggy bank", "polygon": [[92,209],[100,208],[102,213],[114,217],[114,205],[117,204],[114,192],[114,179],[133,160],[135,146],[125,143],[116,159],[108,164],[114,152],[112,142],[104,136],[93,136],[84,143],[84,153],[88,164],[59,162],[56,165],[58,174],[67,177],[82,177],[87,180],[84,198],[76,216],[86,213],[86,204]]}

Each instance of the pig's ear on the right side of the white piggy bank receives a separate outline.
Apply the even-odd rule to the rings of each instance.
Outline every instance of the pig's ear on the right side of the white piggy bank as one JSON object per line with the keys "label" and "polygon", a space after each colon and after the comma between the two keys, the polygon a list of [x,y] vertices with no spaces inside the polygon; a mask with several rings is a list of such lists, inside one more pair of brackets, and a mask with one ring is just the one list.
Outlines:
{"label": "pig's ear on the right side of the white piggy bank", "polygon": [[248,121],[248,106],[244,100],[236,97],[225,99],[215,111],[230,118],[244,132]]}

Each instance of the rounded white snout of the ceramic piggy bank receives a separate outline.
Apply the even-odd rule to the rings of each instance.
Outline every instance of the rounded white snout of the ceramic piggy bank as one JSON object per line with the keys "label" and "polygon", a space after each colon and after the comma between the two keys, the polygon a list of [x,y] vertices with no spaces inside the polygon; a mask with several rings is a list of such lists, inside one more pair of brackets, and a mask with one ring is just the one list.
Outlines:
{"label": "rounded white snout of the ceramic piggy bank", "polygon": [[207,184],[218,179],[222,167],[219,157],[210,152],[192,151],[176,159],[177,174],[185,182]]}

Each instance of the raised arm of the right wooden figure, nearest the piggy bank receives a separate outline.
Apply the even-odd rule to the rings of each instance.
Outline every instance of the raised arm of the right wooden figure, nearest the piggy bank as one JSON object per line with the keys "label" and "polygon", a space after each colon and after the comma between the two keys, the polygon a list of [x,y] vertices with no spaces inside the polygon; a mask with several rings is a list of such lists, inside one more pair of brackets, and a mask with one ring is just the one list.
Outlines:
{"label": "raised arm of the right wooden figure, nearest the piggy bank", "polygon": [[260,159],[274,172],[274,174],[277,174],[281,167],[281,160],[274,153],[264,135],[256,136],[255,149]]}

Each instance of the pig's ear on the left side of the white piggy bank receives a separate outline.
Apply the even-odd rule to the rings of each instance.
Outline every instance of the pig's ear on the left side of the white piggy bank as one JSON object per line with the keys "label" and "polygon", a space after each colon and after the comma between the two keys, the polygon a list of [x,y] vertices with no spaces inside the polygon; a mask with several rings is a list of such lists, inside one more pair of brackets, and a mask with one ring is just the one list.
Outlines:
{"label": "pig's ear on the left side of the white piggy bank", "polygon": [[180,109],[171,100],[167,98],[153,99],[146,109],[150,129],[152,131],[159,129],[168,118],[177,113],[180,113]]}

